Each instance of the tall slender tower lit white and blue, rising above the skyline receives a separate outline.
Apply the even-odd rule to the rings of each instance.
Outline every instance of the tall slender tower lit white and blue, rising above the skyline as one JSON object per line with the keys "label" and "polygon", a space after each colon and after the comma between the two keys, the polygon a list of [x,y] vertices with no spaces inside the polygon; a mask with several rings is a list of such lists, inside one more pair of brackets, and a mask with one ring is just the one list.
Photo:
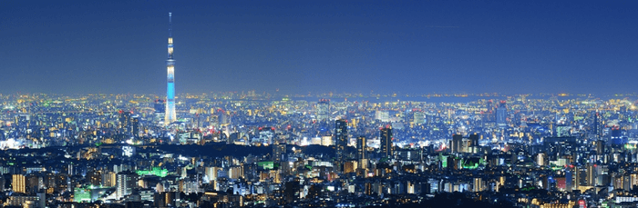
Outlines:
{"label": "tall slender tower lit white and blue, rising above the skyline", "polygon": [[169,125],[177,121],[175,115],[175,60],[173,59],[173,35],[172,20],[169,13],[169,59],[166,60],[167,84],[166,84],[166,115],[164,124]]}

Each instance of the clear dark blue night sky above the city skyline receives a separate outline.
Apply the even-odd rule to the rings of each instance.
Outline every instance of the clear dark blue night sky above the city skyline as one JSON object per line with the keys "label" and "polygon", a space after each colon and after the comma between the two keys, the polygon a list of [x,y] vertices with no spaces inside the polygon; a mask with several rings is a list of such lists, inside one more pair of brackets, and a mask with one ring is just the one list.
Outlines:
{"label": "clear dark blue night sky above the city skyline", "polygon": [[[66,3],[65,3],[66,2]],[[8,1],[1,93],[628,93],[636,1]]]}

